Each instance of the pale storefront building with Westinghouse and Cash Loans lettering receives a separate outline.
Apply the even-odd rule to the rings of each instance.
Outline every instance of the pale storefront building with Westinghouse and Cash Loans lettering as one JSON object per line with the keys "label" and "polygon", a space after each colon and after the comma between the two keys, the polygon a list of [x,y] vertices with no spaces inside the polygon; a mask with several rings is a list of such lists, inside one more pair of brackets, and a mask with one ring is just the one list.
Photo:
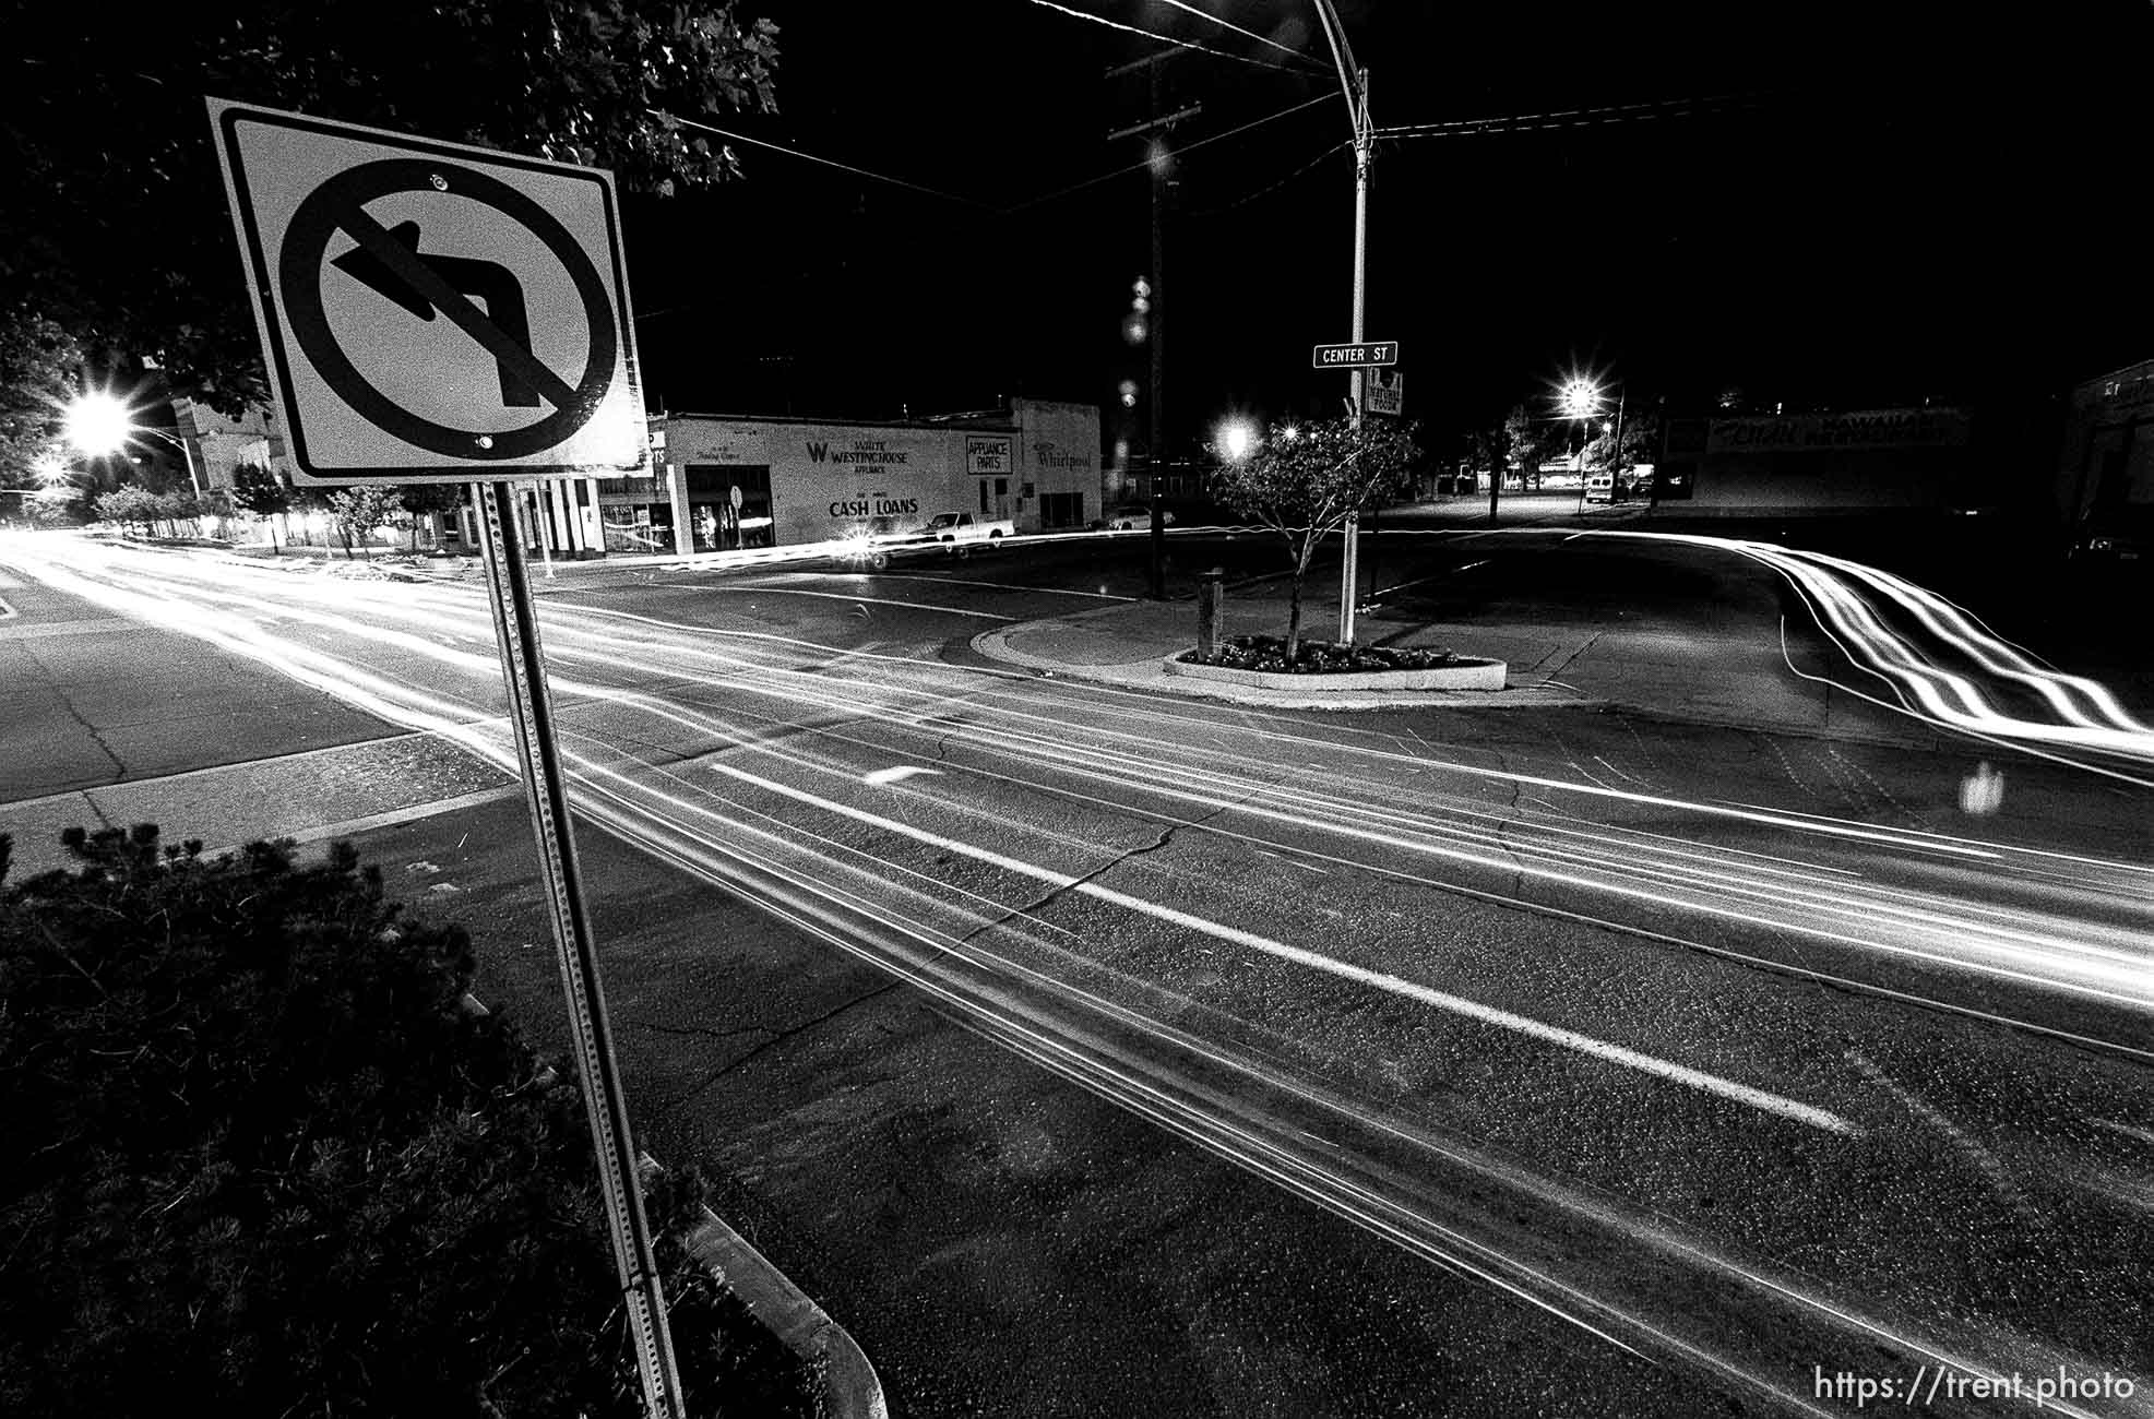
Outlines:
{"label": "pale storefront building with Westinghouse and Cash Loans lettering", "polygon": [[653,474],[597,482],[607,553],[797,547],[903,532],[937,512],[1083,528],[1101,512],[1099,409],[1015,398],[939,420],[668,413]]}

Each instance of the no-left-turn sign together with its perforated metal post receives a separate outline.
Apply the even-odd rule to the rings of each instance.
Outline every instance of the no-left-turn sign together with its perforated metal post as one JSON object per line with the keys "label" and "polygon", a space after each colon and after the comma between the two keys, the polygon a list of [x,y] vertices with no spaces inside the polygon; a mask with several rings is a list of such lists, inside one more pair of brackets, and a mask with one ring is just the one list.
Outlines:
{"label": "no-left-turn sign together with its perforated metal post", "polygon": [[[683,1419],[584,911],[517,478],[648,463],[614,174],[209,101],[293,482],[472,482],[569,1036],[653,1419]],[[551,500],[532,500],[554,571]]]}

